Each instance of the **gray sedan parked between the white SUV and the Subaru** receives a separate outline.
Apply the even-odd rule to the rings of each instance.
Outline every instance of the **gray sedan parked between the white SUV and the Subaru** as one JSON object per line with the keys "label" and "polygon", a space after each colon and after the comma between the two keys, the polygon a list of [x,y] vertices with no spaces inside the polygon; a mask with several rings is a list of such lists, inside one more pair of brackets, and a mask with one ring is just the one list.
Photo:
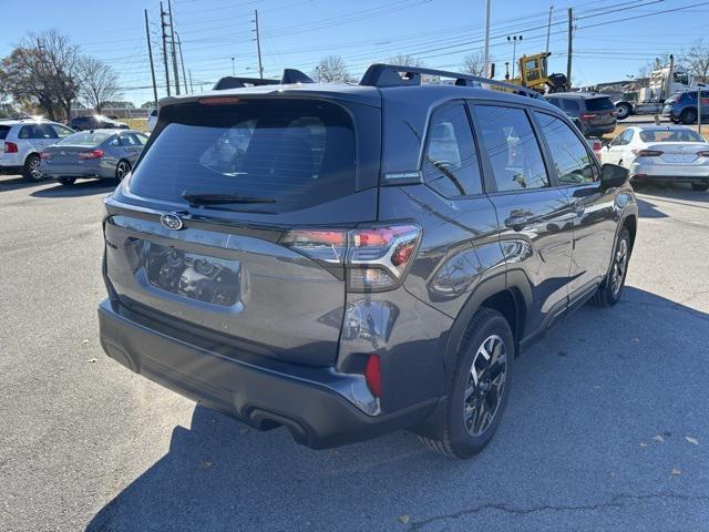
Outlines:
{"label": "gray sedan parked between the white SUV and the Subaru", "polygon": [[41,172],[62,185],[78,178],[117,180],[125,177],[137,161],[147,136],[132,130],[80,131],[45,147]]}

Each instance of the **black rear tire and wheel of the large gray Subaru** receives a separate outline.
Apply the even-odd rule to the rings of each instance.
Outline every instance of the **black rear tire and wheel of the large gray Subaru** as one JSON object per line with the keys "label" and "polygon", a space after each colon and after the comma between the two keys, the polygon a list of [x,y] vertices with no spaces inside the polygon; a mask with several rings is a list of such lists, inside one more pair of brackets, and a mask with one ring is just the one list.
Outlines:
{"label": "black rear tire and wheel of the large gray Subaru", "polygon": [[[493,342],[491,339],[494,339]],[[493,350],[487,358],[482,355],[483,347]],[[481,308],[467,326],[455,370],[450,376],[445,424],[435,438],[420,436],[419,439],[429,449],[448,458],[465,459],[482,451],[495,434],[507,405],[514,355],[514,337],[507,320],[496,310]],[[485,366],[485,362],[489,365]],[[475,371],[476,383],[472,382],[473,364],[481,368],[480,374],[477,369]],[[481,378],[484,388],[480,386]],[[495,402],[494,410],[492,401]],[[469,406],[471,408],[466,409]],[[493,410],[492,419],[485,409]],[[474,417],[471,427],[467,426],[471,419],[466,417],[466,412],[471,418]],[[477,427],[480,419],[482,422]],[[476,428],[481,430],[477,431]]]}

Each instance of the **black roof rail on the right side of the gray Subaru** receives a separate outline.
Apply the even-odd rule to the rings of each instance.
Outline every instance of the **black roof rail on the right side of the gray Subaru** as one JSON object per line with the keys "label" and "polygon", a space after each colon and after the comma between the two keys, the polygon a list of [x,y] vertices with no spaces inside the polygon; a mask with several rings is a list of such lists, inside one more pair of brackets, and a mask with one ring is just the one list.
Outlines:
{"label": "black roof rail on the right side of the gray Subaru", "polygon": [[459,86],[482,86],[493,85],[507,91],[530,98],[541,98],[541,94],[525,86],[505,83],[504,81],[491,80],[472,74],[460,72],[448,72],[445,70],[423,69],[420,66],[402,66],[398,64],[370,64],[360,80],[360,85],[377,86],[414,86],[421,84],[421,74],[438,75],[440,78],[451,78]]}

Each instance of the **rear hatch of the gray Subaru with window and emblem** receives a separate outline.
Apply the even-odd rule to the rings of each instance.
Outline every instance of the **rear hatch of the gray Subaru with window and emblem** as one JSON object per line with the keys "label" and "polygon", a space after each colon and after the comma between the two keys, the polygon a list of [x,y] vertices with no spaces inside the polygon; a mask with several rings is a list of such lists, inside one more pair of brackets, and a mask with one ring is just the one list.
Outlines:
{"label": "rear hatch of the gray Subaru with window and emblem", "polygon": [[218,345],[333,364],[347,231],[377,217],[379,121],[376,106],[312,98],[162,108],[106,202],[117,298]]}

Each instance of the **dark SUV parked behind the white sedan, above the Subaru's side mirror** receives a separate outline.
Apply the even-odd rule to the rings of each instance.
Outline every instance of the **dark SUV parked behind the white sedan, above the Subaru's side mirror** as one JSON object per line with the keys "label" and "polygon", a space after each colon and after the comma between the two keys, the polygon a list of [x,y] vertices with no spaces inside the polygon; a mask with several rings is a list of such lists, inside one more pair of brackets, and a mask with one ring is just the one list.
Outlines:
{"label": "dark SUV parked behind the white sedan, above the Subaru's side mirror", "polygon": [[608,96],[594,92],[555,92],[545,98],[569,119],[577,119],[585,136],[603,136],[616,129],[618,113]]}

